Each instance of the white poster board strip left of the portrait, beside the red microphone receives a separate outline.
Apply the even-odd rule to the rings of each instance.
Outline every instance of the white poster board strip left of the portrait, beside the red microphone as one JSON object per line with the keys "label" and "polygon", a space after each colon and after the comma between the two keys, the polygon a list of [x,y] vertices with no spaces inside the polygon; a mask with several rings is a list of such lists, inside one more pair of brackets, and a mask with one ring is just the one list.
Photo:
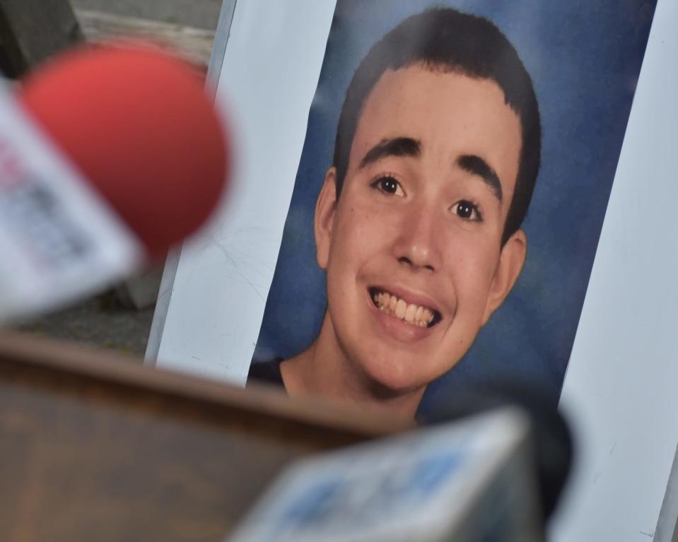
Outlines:
{"label": "white poster board strip left of the portrait, beside the red microphone", "polygon": [[170,262],[146,356],[157,367],[245,384],[333,13],[334,0],[235,3],[216,88],[237,134],[228,198]]}

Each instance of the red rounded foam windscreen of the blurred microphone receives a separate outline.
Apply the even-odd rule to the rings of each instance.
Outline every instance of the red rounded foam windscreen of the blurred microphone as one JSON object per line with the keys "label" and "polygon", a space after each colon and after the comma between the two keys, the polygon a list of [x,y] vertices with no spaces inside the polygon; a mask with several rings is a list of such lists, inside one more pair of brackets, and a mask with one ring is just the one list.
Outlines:
{"label": "red rounded foam windscreen of the blurred microphone", "polygon": [[204,79],[184,61],[149,49],[77,49],[30,74],[19,99],[151,255],[214,209],[226,134]]}

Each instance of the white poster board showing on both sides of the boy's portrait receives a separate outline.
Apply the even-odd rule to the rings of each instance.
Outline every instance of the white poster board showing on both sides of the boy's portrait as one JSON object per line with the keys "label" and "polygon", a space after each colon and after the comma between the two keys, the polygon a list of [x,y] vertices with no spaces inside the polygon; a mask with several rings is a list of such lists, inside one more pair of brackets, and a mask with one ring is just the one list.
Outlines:
{"label": "white poster board showing on both sides of the boy's portrait", "polygon": [[[235,171],[218,216],[168,262],[149,363],[244,384],[333,13],[334,0],[225,2],[228,47],[211,71],[238,134]],[[660,0],[563,385],[580,454],[556,541],[660,539],[678,443],[676,20],[678,4]]]}

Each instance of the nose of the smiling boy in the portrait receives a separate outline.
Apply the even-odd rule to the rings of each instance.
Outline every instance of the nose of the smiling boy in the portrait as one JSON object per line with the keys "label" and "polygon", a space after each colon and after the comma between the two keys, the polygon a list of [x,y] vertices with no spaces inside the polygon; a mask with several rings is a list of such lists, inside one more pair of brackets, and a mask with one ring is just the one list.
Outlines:
{"label": "nose of the smiling boy in the portrait", "polygon": [[431,208],[418,206],[404,216],[395,242],[395,256],[412,269],[440,269],[440,249],[436,242],[436,217]]}

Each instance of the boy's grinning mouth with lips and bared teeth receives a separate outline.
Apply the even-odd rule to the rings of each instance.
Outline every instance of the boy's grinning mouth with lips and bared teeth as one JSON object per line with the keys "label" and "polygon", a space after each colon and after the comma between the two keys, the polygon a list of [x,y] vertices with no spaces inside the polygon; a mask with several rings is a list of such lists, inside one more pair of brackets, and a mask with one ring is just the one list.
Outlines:
{"label": "boy's grinning mouth with lips and bared teeth", "polygon": [[433,302],[422,295],[382,286],[371,286],[368,293],[375,307],[409,326],[431,328],[442,319]]}

